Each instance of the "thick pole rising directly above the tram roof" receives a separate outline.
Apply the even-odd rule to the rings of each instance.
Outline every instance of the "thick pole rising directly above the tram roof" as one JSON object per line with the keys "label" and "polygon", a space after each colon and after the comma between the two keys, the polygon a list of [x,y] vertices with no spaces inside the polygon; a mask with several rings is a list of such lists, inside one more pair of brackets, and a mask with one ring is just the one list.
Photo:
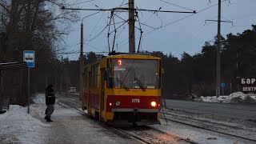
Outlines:
{"label": "thick pole rising directly above the tram roof", "polygon": [[129,0],[129,53],[135,53],[134,0]]}

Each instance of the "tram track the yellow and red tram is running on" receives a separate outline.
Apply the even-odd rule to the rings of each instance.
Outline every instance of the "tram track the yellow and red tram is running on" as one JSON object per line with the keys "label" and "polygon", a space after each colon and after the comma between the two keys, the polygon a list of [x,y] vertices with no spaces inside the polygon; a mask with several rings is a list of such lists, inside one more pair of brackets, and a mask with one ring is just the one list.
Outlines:
{"label": "tram track the yellow and red tram is running on", "polygon": [[[66,106],[70,106],[82,114],[88,115],[83,110],[78,109],[79,102],[72,100],[72,98],[66,97],[57,97],[59,102],[62,102]],[[114,126],[107,126],[106,129],[113,131],[114,133],[122,133],[126,134],[130,138],[137,139],[139,142],[142,143],[193,143],[196,142],[190,141],[190,139],[180,138],[177,135],[166,133],[162,130],[154,129],[154,127],[150,126],[137,126],[137,127],[114,127]]]}

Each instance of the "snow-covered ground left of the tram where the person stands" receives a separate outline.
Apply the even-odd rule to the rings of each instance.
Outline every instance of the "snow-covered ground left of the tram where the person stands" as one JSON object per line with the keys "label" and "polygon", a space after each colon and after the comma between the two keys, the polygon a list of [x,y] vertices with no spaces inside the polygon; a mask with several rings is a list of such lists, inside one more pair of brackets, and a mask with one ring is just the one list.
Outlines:
{"label": "snow-covered ground left of the tram where the person stands", "polygon": [[54,122],[44,119],[44,94],[38,94],[27,107],[12,105],[0,114],[0,143],[138,143],[137,140],[114,134],[102,122],[82,115],[60,102],[55,103]]}

